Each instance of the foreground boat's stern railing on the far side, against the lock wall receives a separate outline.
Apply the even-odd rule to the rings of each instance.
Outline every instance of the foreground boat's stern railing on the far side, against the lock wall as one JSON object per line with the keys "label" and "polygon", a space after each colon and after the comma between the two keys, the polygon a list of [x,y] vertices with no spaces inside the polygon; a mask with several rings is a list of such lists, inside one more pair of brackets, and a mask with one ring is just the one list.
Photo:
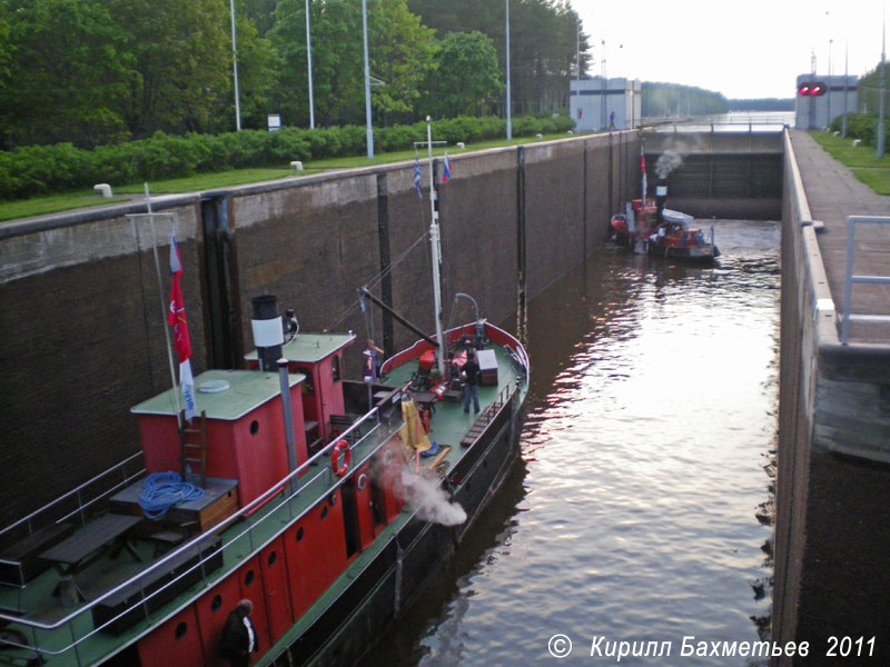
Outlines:
{"label": "foreground boat's stern railing on the far side, against the lock wall", "polygon": [[14,524],[0,530],[0,545],[22,539],[50,524],[77,519],[81,525],[101,504],[145,475],[142,452],[138,451],[100,475],[88,479]]}

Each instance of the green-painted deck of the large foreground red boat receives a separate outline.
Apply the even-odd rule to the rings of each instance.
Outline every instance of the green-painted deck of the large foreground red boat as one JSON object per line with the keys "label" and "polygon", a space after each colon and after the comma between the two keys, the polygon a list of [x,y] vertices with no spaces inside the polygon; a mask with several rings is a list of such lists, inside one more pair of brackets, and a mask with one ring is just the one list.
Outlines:
{"label": "green-painted deck of the large foreground red boat", "polygon": [[[422,466],[427,468],[436,466],[443,471],[457,465],[468,451],[466,447],[461,446],[461,441],[471,434],[477,422],[484,424],[492,410],[500,406],[498,401],[508,398],[517,385],[524,386],[524,374],[507,352],[497,346],[494,349],[498,366],[497,385],[479,388],[482,410],[478,415],[474,415],[472,409],[469,414],[465,414],[462,401],[438,400],[433,404],[429,438],[443,449],[439,455],[422,458]],[[384,381],[387,386],[404,387],[416,369],[417,362],[411,361],[395,369]],[[364,426],[364,431],[368,432],[364,432],[364,437],[354,446],[354,469],[358,469],[384,444],[398,437],[402,422],[400,419],[395,419],[392,424],[368,420]],[[313,457],[312,464],[301,470],[301,475],[297,478],[298,482],[293,488],[281,485],[277,492],[258,499],[265,500],[265,505],[258,504],[260,507],[254,514],[246,517],[237,515],[230,517],[206,534],[202,544],[189,542],[174,547],[172,550],[159,550],[158,542],[141,537],[144,535],[141,531],[130,534],[126,530],[103,529],[102,522],[109,526],[116,522],[115,520],[109,522],[103,517],[118,515],[93,517],[85,527],[78,528],[75,536],[78,532],[82,535],[82,530],[93,531],[95,550],[81,544],[82,549],[77,558],[73,558],[76,563],[66,565],[63,563],[67,557],[63,554],[66,549],[62,548],[62,552],[56,554],[59,557],[57,565],[48,567],[24,586],[0,585],[0,614],[9,619],[21,620],[21,623],[7,620],[4,629],[7,633],[21,631],[29,646],[40,648],[46,665],[91,665],[107,659],[207,594],[221,579],[259,554],[320,499],[329,496],[333,489],[343,484],[343,479],[335,477],[330,468],[330,449],[326,448]],[[314,618],[327,608],[330,600],[336,599],[349,585],[354,573],[367,567],[411,517],[411,511],[403,511],[384,528],[375,541],[349,565],[347,571],[279,639],[279,645],[286,646],[293,643]],[[123,522],[134,521],[123,520]],[[150,584],[152,570],[156,576],[162,575],[171,565],[181,563],[188,557],[189,548],[194,555],[199,548],[207,549],[212,546],[211,542],[217,539],[221,540],[221,550],[217,556],[219,567],[210,571],[207,571],[209,568],[206,567],[192,568],[196,573],[192,583],[184,588],[180,587],[177,595],[169,596],[169,600],[158,601],[154,605],[154,609],[142,608],[137,611],[140,614],[140,619],[129,627],[116,633],[109,633],[108,628],[97,629],[95,619],[97,607],[111,605],[116,599],[126,596],[128,590],[136,590],[138,597],[139,587],[146,583]],[[72,544],[69,542],[68,547],[72,548]],[[43,555],[53,556],[52,549],[47,547],[47,552]],[[136,577],[139,578],[134,579]],[[109,627],[113,627],[113,621]],[[4,638],[10,637],[13,641],[17,640],[9,634]],[[0,650],[0,665],[21,665],[34,655],[32,649],[7,646],[4,650]],[[277,655],[275,650],[268,651],[257,664],[270,661],[274,655]]]}

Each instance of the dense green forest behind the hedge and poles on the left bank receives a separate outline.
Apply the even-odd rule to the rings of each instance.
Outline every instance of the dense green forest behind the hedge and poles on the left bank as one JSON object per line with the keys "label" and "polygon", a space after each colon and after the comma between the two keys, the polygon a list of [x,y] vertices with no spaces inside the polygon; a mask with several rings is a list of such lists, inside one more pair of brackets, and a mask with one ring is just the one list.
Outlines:
{"label": "dense green forest behind the hedge and poles on the left bank", "polygon": [[[362,0],[0,0],[0,149],[158,131],[364,125]],[[312,49],[307,51],[308,34]],[[503,0],[366,0],[374,123],[501,115]],[[236,39],[233,40],[233,22]],[[587,39],[565,0],[513,0],[512,111],[567,107]],[[235,44],[235,48],[233,46]]]}

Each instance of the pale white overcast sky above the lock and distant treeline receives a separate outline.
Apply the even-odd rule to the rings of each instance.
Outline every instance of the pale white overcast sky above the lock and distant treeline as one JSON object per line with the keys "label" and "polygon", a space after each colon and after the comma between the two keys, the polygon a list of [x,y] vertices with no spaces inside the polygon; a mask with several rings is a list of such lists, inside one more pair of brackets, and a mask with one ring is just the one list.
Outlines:
{"label": "pale white overcast sky above the lock and distant treeline", "polygon": [[591,74],[790,98],[797,77],[861,76],[881,60],[886,0],[571,0],[593,47]]}

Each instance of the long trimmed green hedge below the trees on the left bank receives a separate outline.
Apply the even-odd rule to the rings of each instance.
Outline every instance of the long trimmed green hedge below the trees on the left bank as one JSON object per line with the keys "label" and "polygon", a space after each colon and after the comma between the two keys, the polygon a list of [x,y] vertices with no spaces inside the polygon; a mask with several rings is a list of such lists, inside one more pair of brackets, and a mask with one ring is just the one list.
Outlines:
{"label": "long trimmed green hedge below the trees on the left bank", "polygon": [[[516,137],[564,132],[573,127],[564,117],[517,118]],[[503,137],[500,118],[453,118],[436,121],[436,140],[472,143]],[[426,140],[426,123],[375,130],[382,152],[408,150]],[[165,180],[249,167],[285,167],[291,160],[363,155],[366,129],[357,126],[306,130],[285,128],[277,132],[244,130],[226,135],[172,137],[157,132],[150,139],[99,147],[87,151],[70,143],[31,146],[0,151],[0,200],[24,199],[63,192],[99,182],[116,186]]]}

